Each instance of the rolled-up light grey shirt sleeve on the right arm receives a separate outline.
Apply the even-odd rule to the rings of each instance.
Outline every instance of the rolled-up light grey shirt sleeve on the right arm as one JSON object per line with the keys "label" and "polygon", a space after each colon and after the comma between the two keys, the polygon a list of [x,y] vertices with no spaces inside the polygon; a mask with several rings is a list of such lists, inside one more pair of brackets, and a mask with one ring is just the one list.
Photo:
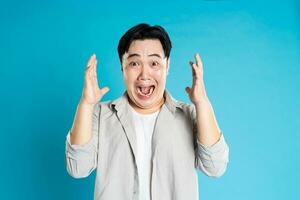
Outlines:
{"label": "rolled-up light grey shirt sleeve on the right arm", "polygon": [[211,177],[222,176],[229,161],[229,147],[225,141],[223,132],[220,132],[219,140],[211,145],[205,146],[197,138],[197,120],[195,108],[192,108],[193,134],[195,138],[195,167],[204,174]]}

